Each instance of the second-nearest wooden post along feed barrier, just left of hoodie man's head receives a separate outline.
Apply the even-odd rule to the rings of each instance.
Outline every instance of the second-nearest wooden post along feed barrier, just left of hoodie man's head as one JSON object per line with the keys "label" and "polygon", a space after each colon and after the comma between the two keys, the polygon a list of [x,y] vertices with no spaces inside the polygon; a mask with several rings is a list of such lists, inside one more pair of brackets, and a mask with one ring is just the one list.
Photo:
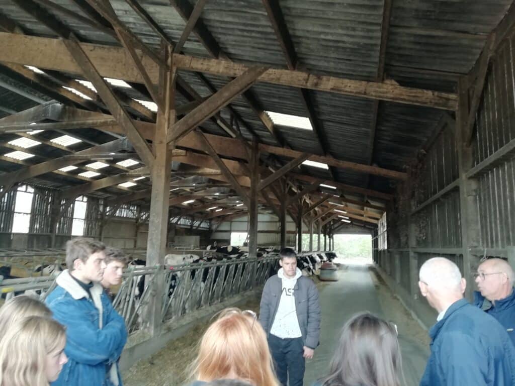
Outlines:
{"label": "second-nearest wooden post along feed barrier, just left of hoodie man's head", "polygon": [[[249,206],[249,257],[258,257],[258,185],[259,173],[259,148],[258,141],[252,141],[251,153],[251,177],[250,177],[250,206]],[[252,264],[252,288],[256,286],[256,272],[258,264]]]}

